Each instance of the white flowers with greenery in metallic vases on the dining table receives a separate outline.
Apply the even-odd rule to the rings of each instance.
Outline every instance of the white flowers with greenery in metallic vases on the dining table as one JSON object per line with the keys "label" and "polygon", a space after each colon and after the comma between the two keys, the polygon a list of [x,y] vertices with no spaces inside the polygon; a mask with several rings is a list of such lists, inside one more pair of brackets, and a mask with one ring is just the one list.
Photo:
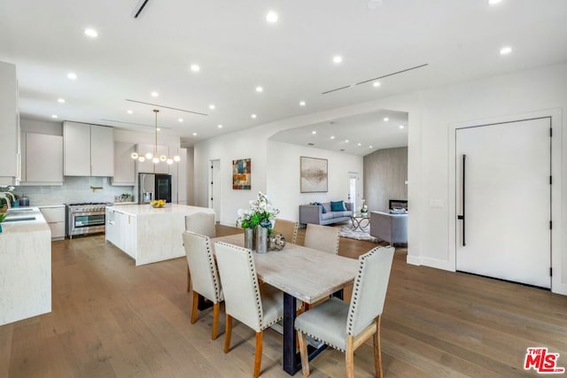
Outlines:
{"label": "white flowers with greenery in metallic vases on the dining table", "polygon": [[238,210],[237,225],[245,229],[245,248],[258,253],[268,251],[268,234],[279,212],[262,192],[250,201],[248,209]]}

